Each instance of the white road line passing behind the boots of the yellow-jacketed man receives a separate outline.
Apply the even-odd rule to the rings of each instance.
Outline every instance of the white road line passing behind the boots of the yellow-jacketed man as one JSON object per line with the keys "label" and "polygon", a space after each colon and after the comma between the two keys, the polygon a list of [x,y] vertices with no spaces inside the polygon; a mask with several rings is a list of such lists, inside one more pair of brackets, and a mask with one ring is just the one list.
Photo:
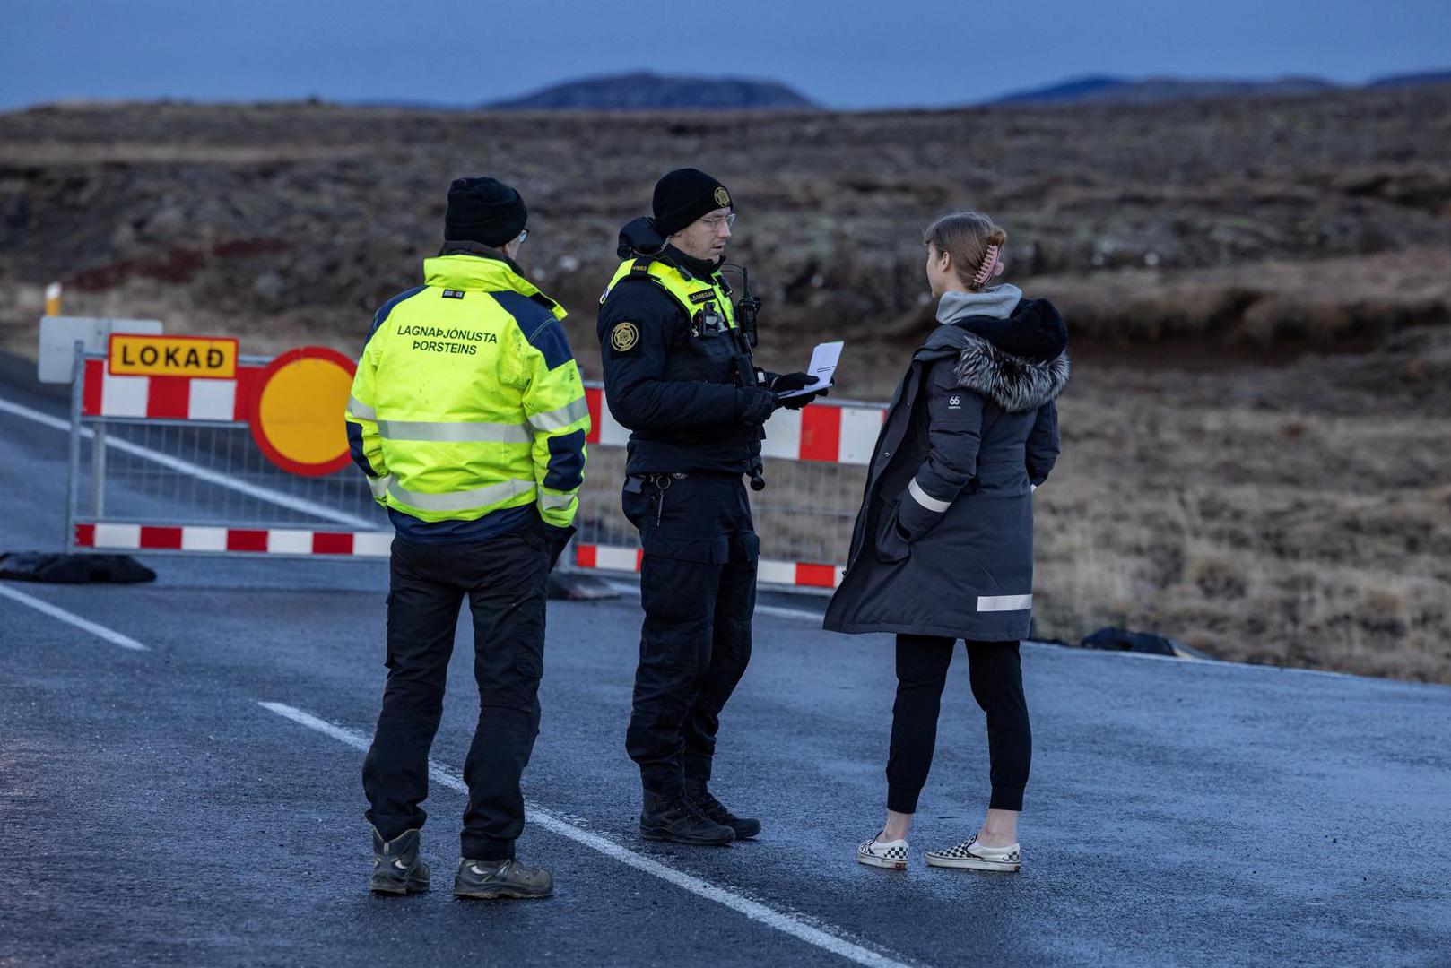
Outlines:
{"label": "white road line passing behind the boots of the yellow-jacketed man", "polygon": [[[293,723],[300,723],[308,729],[316,730],[325,736],[331,736],[340,743],[345,743],[353,749],[367,750],[370,740],[350,729],[341,726],[334,726],[319,720],[309,713],[303,713],[290,705],[283,705],[281,702],[258,702],[266,710],[283,715]],[[448,787],[450,789],[457,789],[459,792],[469,792],[469,787],[464,785],[463,779],[448,771],[445,766],[440,766],[437,762],[428,762],[428,776],[429,779]],[[562,817],[551,814],[547,810],[540,810],[534,804],[528,804],[530,823],[535,823],[551,833],[557,833],[562,837],[567,837],[575,843],[586,846],[592,850],[598,850],[608,858],[620,861],[624,865],[633,866],[637,871],[643,871],[662,881],[669,881],[670,884],[689,891],[705,900],[715,901],[717,904],[724,904],[726,907],[744,914],[753,922],[773,927],[778,932],[791,935],[808,945],[814,945],[823,951],[829,951],[833,955],[840,955],[847,961],[853,961],[859,965],[874,965],[876,968],[905,968],[905,964],[897,961],[895,958],[888,958],[869,948],[862,948],[858,943],[849,942],[840,935],[823,930],[820,927],[813,927],[804,919],[797,914],[788,914],[785,911],[778,911],[773,907],[768,907],[760,901],[753,901],[749,897],[737,894],[736,891],[728,891],[723,887],[715,887],[708,881],[702,881],[698,877],[685,874],[683,871],[676,871],[672,866],[666,866],[659,861],[647,858],[644,855],[636,853],[627,848],[620,846],[614,840],[599,836],[598,833],[591,833],[583,827],[577,827]]]}

